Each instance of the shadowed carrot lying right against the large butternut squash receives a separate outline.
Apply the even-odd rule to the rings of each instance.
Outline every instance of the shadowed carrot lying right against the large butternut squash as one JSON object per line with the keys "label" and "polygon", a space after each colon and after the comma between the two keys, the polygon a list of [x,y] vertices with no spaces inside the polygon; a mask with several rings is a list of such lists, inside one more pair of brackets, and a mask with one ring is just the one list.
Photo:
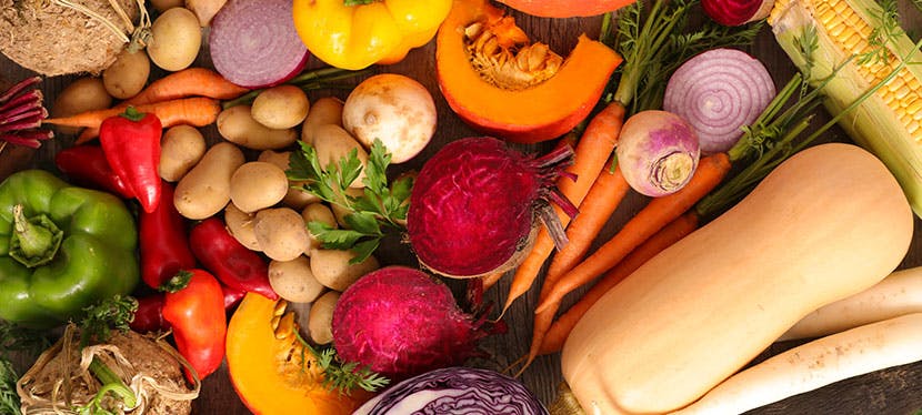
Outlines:
{"label": "shadowed carrot lying right against the large butternut squash", "polygon": [[[550,327],[544,327],[538,338],[532,337],[532,351],[537,355],[544,355],[549,353],[560,352],[563,348],[563,342],[570,335],[570,331],[577,325],[580,317],[595,304],[611,287],[615,286],[621,280],[633,273],[641,265],[647,263],[651,257],[655,256],[682,237],[690,234],[698,229],[699,217],[693,211],[679,216],[677,220],[670,222],[665,227],[657,232],[655,235],[650,236],[649,240],[640,244],[635,250],[631,251],[628,256],[624,256],[618,265],[609,270],[595,285],[592,286],[573,306],[563,313]],[[535,321],[539,316],[550,314],[553,316],[557,307],[551,307],[545,312],[535,315]],[[550,318],[549,318],[550,320]],[[532,357],[533,358],[533,357]]]}

